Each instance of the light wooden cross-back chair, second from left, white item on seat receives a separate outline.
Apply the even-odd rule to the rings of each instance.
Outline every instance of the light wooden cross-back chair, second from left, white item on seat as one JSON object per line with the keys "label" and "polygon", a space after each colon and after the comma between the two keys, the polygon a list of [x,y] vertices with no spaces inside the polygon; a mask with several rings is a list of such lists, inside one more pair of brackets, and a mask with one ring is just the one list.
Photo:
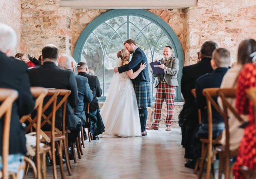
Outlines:
{"label": "light wooden cross-back chair, second from left, white item on seat", "polygon": [[[43,173],[43,178],[46,178],[46,153],[49,153],[51,156],[51,148],[50,146],[47,146],[43,143],[40,144],[40,136],[44,138],[46,142],[50,142],[50,138],[41,130],[41,117],[42,117],[42,107],[43,107],[43,100],[44,97],[47,95],[48,90],[46,88],[42,87],[31,87],[30,91],[32,95],[36,98],[35,101],[35,107],[34,109],[37,111],[37,116],[36,116],[36,121],[33,122],[31,118],[31,114],[23,116],[20,119],[21,123],[24,123],[28,121],[29,123],[32,123],[31,128],[27,128],[27,131],[35,131],[36,132],[36,146],[33,148],[35,150],[35,159],[36,159],[36,167],[34,166],[34,163],[32,160],[30,160],[30,157],[27,158],[25,157],[25,161],[28,162],[26,172],[25,174],[27,175],[29,165],[32,166],[34,170],[34,175],[35,178],[41,179],[41,167],[42,167],[42,173]],[[36,169],[35,169],[36,168]],[[36,170],[36,171],[35,171]]]}

